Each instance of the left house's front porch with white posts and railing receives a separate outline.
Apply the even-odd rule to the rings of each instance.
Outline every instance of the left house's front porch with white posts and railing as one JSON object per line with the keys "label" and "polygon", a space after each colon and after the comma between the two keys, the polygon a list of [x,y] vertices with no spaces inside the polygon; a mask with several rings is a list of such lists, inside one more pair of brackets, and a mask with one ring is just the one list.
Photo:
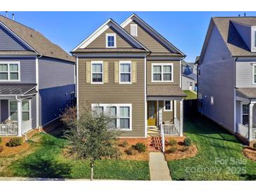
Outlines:
{"label": "left house's front porch with white posts and railing", "polygon": [[34,95],[35,85],[1,85],[0,136],[21,137],[32,129]]}

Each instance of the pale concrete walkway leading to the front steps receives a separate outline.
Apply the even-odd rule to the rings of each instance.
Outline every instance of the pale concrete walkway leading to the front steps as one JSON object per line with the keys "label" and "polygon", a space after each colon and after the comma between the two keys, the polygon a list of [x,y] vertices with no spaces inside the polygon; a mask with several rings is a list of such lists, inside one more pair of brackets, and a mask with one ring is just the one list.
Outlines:
{"label": "pale concrete walkway leading to the front steps", "polygon": [[149,153],[149,172],[151,181],[171,181],[167,162],[161,152]]}

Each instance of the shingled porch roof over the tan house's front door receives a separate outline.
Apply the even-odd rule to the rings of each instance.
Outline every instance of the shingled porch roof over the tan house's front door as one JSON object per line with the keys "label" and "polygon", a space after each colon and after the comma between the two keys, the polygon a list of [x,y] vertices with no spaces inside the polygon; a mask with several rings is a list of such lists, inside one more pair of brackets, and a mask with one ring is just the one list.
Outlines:
{"label": "shingled porch roof over the tan house's front door", "polygon": [[147,85],[147,96],[187,97],[178,85]]}

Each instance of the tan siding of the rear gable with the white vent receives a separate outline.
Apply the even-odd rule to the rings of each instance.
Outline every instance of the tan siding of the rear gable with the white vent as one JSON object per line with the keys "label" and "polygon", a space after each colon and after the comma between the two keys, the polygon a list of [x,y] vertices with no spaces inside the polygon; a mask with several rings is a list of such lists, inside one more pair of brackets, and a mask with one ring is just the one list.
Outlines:
{"label": "tan siding of the rear gable with the white vent", "polygon": [[[135,22],[130,22],[124,29],[130,34],[130,24],[135,24]],[[172,51],[165,48],[159,41],[157,41],[149,32],[146,32],[140,25],[137,24],[137,36],[135,38],[140,41],[146,48],[151,50],[151,52],[158,53],[170,53]]]}

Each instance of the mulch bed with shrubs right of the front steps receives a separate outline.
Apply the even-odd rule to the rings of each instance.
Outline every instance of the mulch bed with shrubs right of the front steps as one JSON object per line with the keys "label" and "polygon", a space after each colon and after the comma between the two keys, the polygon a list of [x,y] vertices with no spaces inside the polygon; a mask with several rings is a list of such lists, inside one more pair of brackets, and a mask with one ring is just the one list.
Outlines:
{"label": "mulch bed with shrubs right of the front steps", "polygon": [[[177,144],[174,146],[166,144],[166,150],[164,153],[166,160],[177,160],[196,156],[197,148],[194,144],[191,144],[191,146],[184,146],[184,143],[181,142],[180,139],[175,140],[177,141]],[[176,151],[169,151],[171,148],[175,148]]]}

